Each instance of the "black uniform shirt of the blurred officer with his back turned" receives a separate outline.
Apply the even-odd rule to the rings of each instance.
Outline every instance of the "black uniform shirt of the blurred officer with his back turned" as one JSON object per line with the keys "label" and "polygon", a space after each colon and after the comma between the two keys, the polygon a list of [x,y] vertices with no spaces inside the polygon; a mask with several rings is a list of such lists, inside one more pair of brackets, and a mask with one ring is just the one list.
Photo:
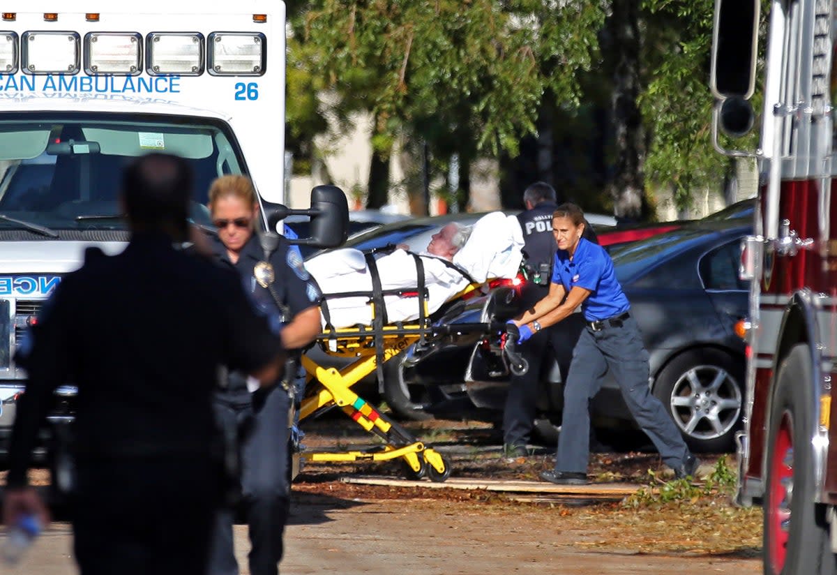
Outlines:
{"label": "black uniform shirt of the blurred officer with his back turned", "polygon": [[249,372],[281,350],[238,275],[151,234],[135,234],[121,254],[88,257],[55,289],[30,336],[8,485],[26,484],[59,385],[79,388],[80,456],[212,456],[219,365]]}

